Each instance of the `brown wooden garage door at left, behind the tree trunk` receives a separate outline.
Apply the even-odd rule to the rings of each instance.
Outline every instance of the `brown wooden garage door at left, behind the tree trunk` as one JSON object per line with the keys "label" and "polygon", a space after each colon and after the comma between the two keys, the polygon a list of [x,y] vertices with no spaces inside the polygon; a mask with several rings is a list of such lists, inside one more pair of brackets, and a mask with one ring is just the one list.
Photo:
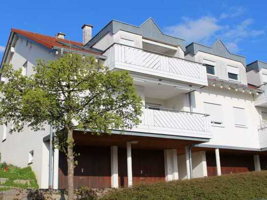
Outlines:
{"label": "brown wooden garage door at left, behind the tree trunk", "polygon": [[[74,169],[74,187],[109,188],[111,187],[110,148],[76,146],[78,165]],[[67,188],[67,161],[59,153],[59,189]]]}

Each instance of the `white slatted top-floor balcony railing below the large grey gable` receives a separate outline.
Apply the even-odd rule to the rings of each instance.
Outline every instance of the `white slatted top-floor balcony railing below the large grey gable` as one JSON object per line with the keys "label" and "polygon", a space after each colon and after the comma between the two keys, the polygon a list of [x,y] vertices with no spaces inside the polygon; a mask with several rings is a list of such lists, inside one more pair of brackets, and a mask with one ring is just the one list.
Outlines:
{"label": "white slatted top-floor balcony railing below the large grey gable", "polygon": [[208,86],[206,67],[200,63],[114,43],[103,53],[104,65],[179,82]]}

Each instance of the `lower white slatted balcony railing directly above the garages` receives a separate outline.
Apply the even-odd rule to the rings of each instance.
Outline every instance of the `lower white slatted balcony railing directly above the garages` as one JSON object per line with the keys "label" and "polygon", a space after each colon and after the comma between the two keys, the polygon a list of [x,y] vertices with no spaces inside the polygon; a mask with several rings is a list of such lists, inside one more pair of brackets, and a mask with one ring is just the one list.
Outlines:
{"label": "lower white slatted balcony railing directly above the garages", "polygon": [[146,106],[141,120],[131,131],[208,139],[212,136],[208,114]]}

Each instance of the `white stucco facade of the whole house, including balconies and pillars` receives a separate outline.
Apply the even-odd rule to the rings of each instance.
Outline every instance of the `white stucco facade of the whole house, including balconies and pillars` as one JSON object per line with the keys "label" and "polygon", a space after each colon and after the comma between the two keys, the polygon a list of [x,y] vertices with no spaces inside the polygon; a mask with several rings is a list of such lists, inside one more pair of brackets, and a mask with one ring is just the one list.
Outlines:
{"label": "white stucco facade of the whole house, including balconies and pillars", "polygon": [[[246,149],[255,151],[256,155],[266,148],[267,131],[259,131],[259,128],[264,118],[263,113],[267,113],[267,106],[255,105],[258,90],[249,88],[248,84],[262,85],[263,74],[267,74],[267,69],[246,73],[246,66],[240,60],[202,51],[195,55],[185,54],[182,45],[166,42],[168,38],[164,38],[165,36],[155,41],[134,31],[119,29],[114,34],[107,32],[92,45],[93,48],[103,51],[106,59],[100,62],[111,70],[130,71],[137,93],[142,98],[142,123],[128,131],[132,134],[154,134],[168,139],[180,137],[181,140],[195,141],[197,145],[204,144],[207,148],[212,148],[212,151],[213,148],[220,147]],[[12,48],[7,61],[14,69],[21,68],[27,62],[28,76],[33,73],[32,67],[36,65],[36,59],[53,60],[60,54],[26,37],[16,36],[12,41]],[[214,66],[215,73],[207,74],[206,66],[202,64]],[[229,79],[229,67],[237,69],[236,81]],[[214,113],[207,113],[207,103],[220,106],[217,116],[221,119],[219,123],[211,120]],[[237,124],[235,109],[241,109],[244,124]],[[9,123],[7,130],[10,126]],[[48,188],[49,142],[43,142],[43,138],[49,135],[49,127],[47,126],[45,131],[37,132],[25,127],[21,133],[12,135],[4,133],[3,126],[0,130],[0,139],[3,139],[0,143],[1,162],[19,167],[30,165],[36,174],[39,187]],[[186,145],[187,148],[188,144]],[[201,149],[191,155],[194,178],[208,175],[206,150]],[[29,163],[29,154],[32,151],[33,160]],[[130,152],[129,149],[128,151]],[[189,155],[185,155],[183,151],[178,152],[173,148],[164,149],[167,181],[190,178],[189,162],[186,158]],[[112,186],[119,187],[118,147],[113,146],[111,153]],[[259,160],[258,156],[257,159]],[[58,150],[54,152],[53,165],[53,187],[58,188]],[[129,169],[132,170],[128,166]],[[260,167],[257,166],[257,169]]]}

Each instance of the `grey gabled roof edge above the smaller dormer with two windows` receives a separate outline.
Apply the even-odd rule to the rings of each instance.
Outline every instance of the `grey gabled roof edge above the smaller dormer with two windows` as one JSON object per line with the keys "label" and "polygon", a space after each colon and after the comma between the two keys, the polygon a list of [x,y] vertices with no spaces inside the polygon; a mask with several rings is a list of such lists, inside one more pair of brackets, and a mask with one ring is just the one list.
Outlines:
{"label": "grey gabled roof edge above the smaller dormer with two windows", "polygon": [[220,39],[214,42],[211,47],[198,44],[195,42],[192,42],[186,47],[186,53],[191,53],[192,55],[196,55],[199,51],[208,54],[213,54],[215,56],[226,57],[232,60],[236,60],[243,63],[243,65],[246,66],[246,58],[243,56],[230,53]]}

